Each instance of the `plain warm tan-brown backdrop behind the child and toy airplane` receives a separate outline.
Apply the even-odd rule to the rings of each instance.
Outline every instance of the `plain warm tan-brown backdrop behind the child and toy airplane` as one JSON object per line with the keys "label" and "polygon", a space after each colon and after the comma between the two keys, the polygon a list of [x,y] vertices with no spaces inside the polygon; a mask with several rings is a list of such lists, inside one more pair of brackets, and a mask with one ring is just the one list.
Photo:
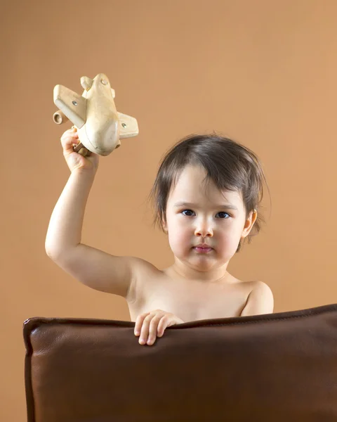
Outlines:
{"label": "plain warm tan-brown backdrop behind the child and toy airplane", "polygon": [[165,151],[216,130],[263,161],[267,225],[230,262],[272,288],[275,312],[337,302],[337,2],[9,1],[1,5],[1,421],[25,421],[22,323],[129,319],[82,286],[44,240],[69,176],[53,87],[104,72],[140,134],[100,160],[82,241],[159,268],[172,262],[147,194]]}

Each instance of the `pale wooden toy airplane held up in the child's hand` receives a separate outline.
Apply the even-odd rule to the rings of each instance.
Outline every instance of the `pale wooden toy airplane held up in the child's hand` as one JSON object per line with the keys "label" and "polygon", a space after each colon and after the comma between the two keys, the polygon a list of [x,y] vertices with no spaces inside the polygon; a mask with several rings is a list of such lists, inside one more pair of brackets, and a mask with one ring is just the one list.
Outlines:
{"label": "pale wooden toy airplane held up in the child's hand", "polygon": [[119,113],[114,105],[114,89],[104,73],[93,79],[81,77],[83,94],[56,85],[54,103],[60,110],[53,115],[56,124],[70,120],[79,133],[80,143],[74,151],[90,155],[109,155],[121,145],[120,139],[137,136],[138,123],[134,117]]}

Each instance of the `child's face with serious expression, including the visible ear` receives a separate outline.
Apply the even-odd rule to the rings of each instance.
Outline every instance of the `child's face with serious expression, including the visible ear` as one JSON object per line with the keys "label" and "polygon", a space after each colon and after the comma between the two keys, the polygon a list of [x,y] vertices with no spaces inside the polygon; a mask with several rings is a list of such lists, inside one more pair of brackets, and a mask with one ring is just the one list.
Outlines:
{"label": "child's face with serious expression, including the visible ear", "polygon": [[[229,262],[256,220],[252,212],[246,218],[241,193],[221,192],[213,181],[204,182],[205,177],[203,167],[185,167],[169,195],[163,223],[176,259],[199,271],[218,269]],[[199,243],[207,243],[212,250],[198,252],[194,246]]]}

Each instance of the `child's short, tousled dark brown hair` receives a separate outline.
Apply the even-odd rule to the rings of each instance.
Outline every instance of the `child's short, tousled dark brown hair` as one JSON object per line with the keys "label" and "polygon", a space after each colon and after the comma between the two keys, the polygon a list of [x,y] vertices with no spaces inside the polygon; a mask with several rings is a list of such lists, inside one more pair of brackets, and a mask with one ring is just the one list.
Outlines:
{"label": "child's short, tousled dark brown hair", "polygon": [[[193,134],[181,139],[165,154],[149,198],[154,199],[154,226],[164,230],[166,204],[171,188],[187,165],[201,165],[206,170],[206,180],[211,179],[219,190],[241,191],[246,217],[259,210],[263,199],[265,174],[258,156],[249,148],[218,134]],[[267,185],[267,181],[265,180]],[[269,188],[268,188],[269,191]],[[248,243],[256,236],[265,219],[260,212],[247,236]],[[242,247],[242,241],[237,252]]]}

